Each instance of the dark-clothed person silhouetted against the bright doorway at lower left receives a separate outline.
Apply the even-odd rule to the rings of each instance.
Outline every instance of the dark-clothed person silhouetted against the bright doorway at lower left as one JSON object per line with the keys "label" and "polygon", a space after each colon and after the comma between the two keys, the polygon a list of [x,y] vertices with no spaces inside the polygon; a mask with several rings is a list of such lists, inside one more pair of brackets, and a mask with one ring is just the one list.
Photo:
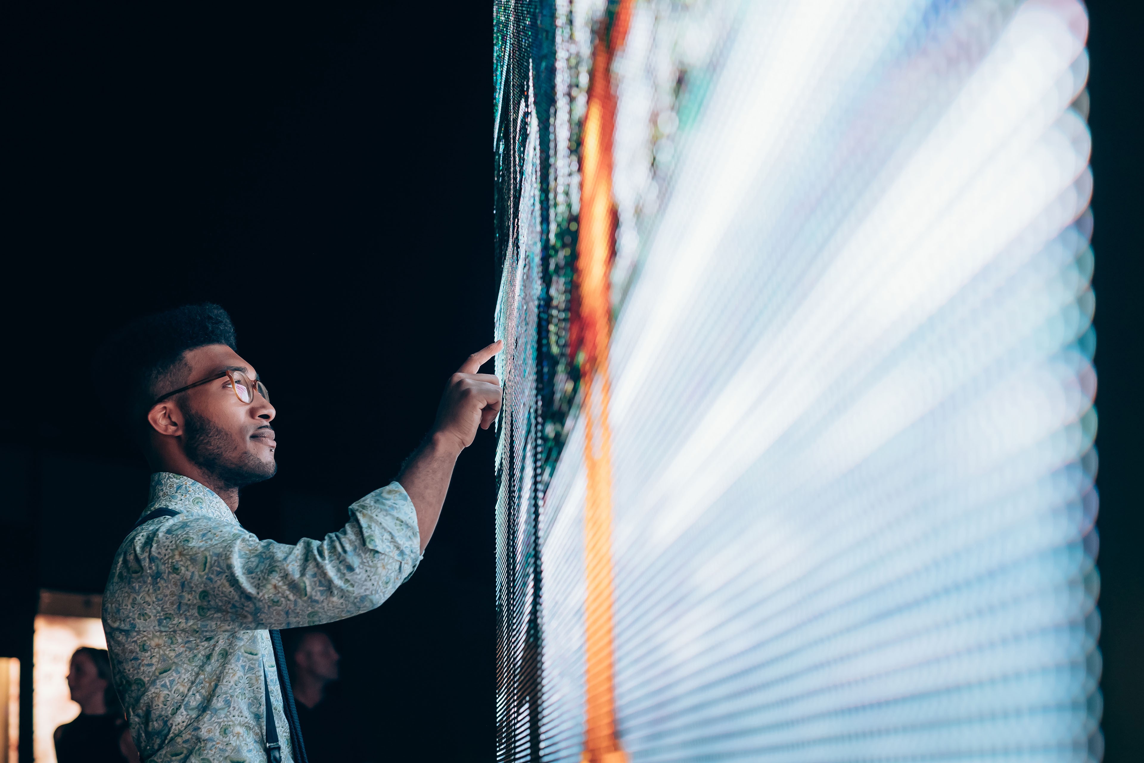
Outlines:
{"label": "dark-clothed person silhouetted against the bright doorway at lower left", "polygon": [[138,763],[124,708],[111,685],[106,650],[81,646],[72,654],[67,689],[79,717],[56,729],[58,763]]}

